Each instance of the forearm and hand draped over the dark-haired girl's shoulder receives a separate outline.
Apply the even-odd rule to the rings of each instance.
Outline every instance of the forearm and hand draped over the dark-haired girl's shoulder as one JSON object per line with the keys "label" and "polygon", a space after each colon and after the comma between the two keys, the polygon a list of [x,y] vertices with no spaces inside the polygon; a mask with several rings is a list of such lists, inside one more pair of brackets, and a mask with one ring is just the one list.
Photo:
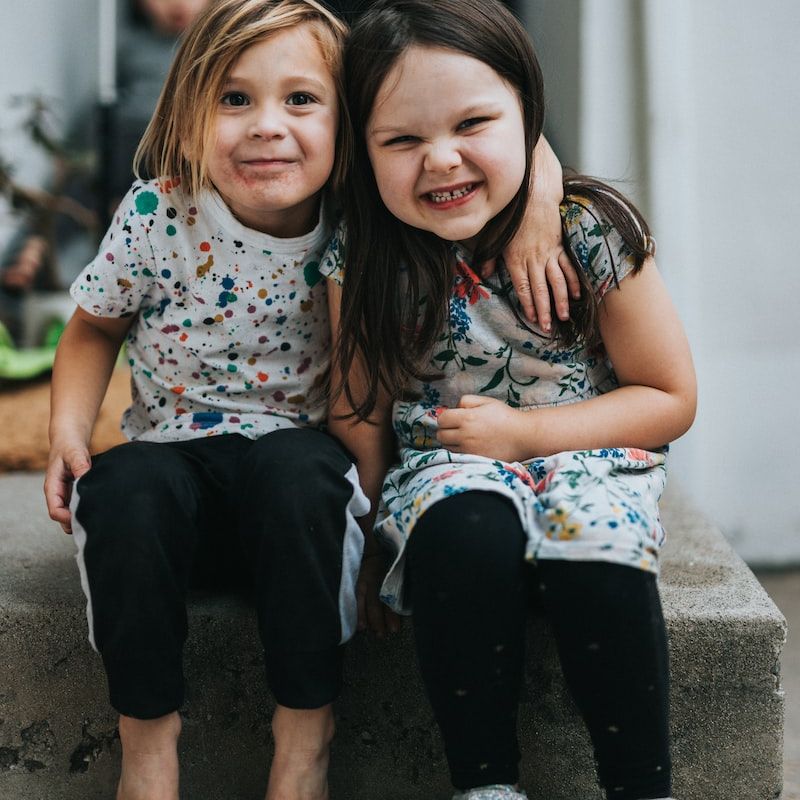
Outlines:
{"label": "forearm and hand draped over the dark-haired girl's shoulder", "polygon": [[562,320],[569,318],[569,298],[580,297],[578,275],[562,242],[559,205],[563,199],[561,164],[540,136],[533,151],[531,196],[525,217],[503,258],[523,313],[531,322],[538,321],[545,332],[550,331],[552,320],[550,291]]}

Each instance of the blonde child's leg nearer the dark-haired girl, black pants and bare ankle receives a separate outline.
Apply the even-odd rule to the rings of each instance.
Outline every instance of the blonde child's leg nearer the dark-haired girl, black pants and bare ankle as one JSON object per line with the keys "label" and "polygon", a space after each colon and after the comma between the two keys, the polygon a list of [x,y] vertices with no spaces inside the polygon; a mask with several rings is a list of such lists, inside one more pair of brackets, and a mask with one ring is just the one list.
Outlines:
{"label": "blonde child's leg nearer the dark-haired girl, black pants and bare ankle", "polygon": [[355,627],[365,513],[349,457],[331,437],[282,430],[240,465],[240,531],[253,570],[267,680],[278,702],[269,800],[327,797],[331,703]]}

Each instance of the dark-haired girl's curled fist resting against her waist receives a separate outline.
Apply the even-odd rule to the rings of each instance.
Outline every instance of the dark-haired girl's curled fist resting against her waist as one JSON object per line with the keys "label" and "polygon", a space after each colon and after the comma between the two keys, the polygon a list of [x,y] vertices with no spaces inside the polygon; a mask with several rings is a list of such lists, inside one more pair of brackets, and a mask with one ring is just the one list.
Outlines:
{"label": "dark-haired girl's curled fist resting against her waist", "polygon": [[465,394],[457,408],[440,412],[437,438],[454,453],[520,461],[528,457],[520,447],[522,427],[530,421],[523,414],[502,400]]}

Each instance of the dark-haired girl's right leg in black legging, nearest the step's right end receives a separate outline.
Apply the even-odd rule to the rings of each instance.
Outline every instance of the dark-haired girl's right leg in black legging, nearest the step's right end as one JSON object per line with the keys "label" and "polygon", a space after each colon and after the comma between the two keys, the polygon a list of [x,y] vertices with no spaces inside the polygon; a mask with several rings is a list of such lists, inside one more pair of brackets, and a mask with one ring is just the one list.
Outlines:
{"label": "dark-haired girl's right leg in black legging, nearest the step's right end", "polygon": [[564,677],[589,728],[607,797],[667,797],[669,668],[655,575],[570,561],[540,561],[538,572]]}

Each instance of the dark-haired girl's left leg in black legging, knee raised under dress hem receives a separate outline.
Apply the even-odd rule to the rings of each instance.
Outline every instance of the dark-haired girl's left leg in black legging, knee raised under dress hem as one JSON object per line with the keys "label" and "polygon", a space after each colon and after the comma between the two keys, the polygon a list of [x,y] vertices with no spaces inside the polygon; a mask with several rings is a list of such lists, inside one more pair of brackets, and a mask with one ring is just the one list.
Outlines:
{"label": "dark-haired girl's left leg in black legging, knee raised under dress hem", "polygon": [[409,539],[417,655],[458,789],[519,778],[525,542],[511,502],[487,492],[436,503]]}

